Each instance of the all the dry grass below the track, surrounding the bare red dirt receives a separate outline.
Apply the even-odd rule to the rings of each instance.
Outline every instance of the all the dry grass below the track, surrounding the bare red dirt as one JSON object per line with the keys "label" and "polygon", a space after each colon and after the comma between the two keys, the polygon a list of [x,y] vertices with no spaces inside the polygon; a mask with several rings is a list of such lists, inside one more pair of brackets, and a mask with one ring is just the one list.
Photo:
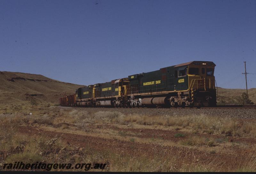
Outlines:
{"label": "all the dry grass below the track, surrounding the bare red dirt", "polygon": [[[35,112],[36,113],[36,112]],[[156,144],[163,147],[204,147],[210,154],[218,154],[223,149],[215,147],[225,143],[227,139],[207,139],[195,134],[187,137],[188,132],[200,132],[204,134],[224,135],[234,137],[255,138],[255,124],[250,121],[241,122],[235,118],[221,118],[210,116],[140,116],[136,114],[124,115],[121,112],[88,111],[72,109],[69,112],[62,109],[50,109],[48,112],[41,111],[32,116],[23,113],[0,115],[0,151],[5,155],[4,161],[0,163],[11,163],[23,161],[34,163],[36,161],[58,162],[58,163],[108,163],[107,171],[220,171],[225,168],[221,161],[211,160],[203,163],[198,157],[166,156],[161,154],[148,154],[132,156],[125,152],[114,152],[111,150],[92,151],[93,147],[79,150],[74,146],[63,142],[61,137],[46,138],[44,135],[27,137],[19,133],[19,126],[35,126],[39,129],[47,129],[52,132],[63,132],[81,134],[111,140],[122,140],[132,144]],[[65,124],[63,124],[65,123]],[[74,125],[75,130],[70,125]],[[111,129],[89,130],[88,125],[116,124],[121,127],[139,127],[143,129],[154,129],[162,126],[169,130],[180,131],[176,139],[181,138],[178,143],[157,138],[138,138],[139,134],[129,131]],[[8,125],[8,126],[6,126]],[[61,126],[57,126],[61,125]],[[56,127],[57,128],[54,128]],[[142,132],[143,133],[143,132]],[[176,135],[176,134],[175,134]],[[185,135],[185,137],[183,136]],[[175,137],[173,137],[175,139]],[[231,143],[230,143],[231,144]],[[230,145],[231,146],[231,145]],[[241,146],[238,144],[236,146]],[[204,149],[204,150],[205,150]],[[217,150],[216,150],[217,149]],[[232,151],[232,149],[229,149]],[[57,153],[58,152],[58,153]],[[182,152],[181,152],[182,153]],[[224,151],[222,152],[224,153]],[[230,171],[256,171],[256,155],[249,154],[247,159],[234,166]],[[104,170],[105,171],[105,170]]]}

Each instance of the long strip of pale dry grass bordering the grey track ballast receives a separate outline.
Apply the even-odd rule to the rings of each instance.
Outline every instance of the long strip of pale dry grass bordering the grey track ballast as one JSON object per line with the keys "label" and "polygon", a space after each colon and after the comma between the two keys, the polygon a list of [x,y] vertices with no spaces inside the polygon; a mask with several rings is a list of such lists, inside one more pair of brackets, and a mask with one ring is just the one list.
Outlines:
{"label": "long strip of pale dry grass bordering the grey track ballast", "polygon": [[[14,114],[15,115],[15,114]],[[22,115],[9,115],[10,119],[17,119],[17,124],[33,125],[58,125],[61,123],[74,124],[83,129],[86,124],[108,124],[119,125],[146,125],[172,127],[174,130],[191,130],[195,133],[223,134],[226,136],[243,136],[256,138],[255,121],[243,121],[231,117],[211,117],[205,115],[189,116],[168,116],[168,115],[124,115],[121,112],[98,111],[90,113],[88,111],[72,109],[68,113],[62,109],[52,109],[48,113]],[[3,117],[6,117],[3,116]],[[63,127],[65,128],[65,127]]]}

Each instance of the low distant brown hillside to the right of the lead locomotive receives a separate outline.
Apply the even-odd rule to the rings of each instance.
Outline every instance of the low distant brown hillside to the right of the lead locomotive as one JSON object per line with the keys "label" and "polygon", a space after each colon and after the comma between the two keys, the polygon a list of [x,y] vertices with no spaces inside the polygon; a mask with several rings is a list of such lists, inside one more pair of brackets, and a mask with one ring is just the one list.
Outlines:
{"label": "low distant brown hillside to the right of the lead locomotive", "polygon": [[[220,105],[236,105],[245,104],[242,94],[246,93],[246,89],[226,89],[219,87],[219,98],[217,100]],[[256,104],[256,88],[248,89],[249,99]]]}

